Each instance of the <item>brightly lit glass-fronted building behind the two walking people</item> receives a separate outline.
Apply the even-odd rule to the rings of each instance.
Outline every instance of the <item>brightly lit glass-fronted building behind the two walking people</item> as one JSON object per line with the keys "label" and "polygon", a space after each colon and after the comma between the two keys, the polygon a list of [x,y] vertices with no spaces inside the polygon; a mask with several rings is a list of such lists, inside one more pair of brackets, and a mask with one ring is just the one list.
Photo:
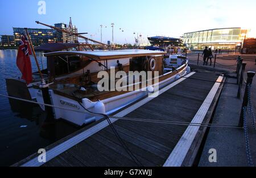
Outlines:
{"label": "brightly lit glass-fronted building behind the two walking people", "polygon": [[235,49],[241,46],[246,36],[246,30],[241,28],[216,28],[189,32],[184,34],[184,44],[192,49],[203,49],[205,46],[212,49]]}

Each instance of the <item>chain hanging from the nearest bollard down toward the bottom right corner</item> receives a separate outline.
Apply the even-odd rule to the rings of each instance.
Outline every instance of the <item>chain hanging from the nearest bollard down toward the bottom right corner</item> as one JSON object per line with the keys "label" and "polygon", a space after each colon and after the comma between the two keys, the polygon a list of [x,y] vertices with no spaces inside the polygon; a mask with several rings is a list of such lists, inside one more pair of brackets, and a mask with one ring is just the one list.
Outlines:
{"label": "chain hanging from the nearest bollard down toward the bottom right corner", "polygon": [[250,143],[249,143],[249,134],[247,129],[247,122],[246,122],[246,111],[247,107],[243,107],[243,131],[245,132],[245,146],[246,146],[246,156],[247,156],[247,163],[250,167],[254,167],[253,159],[251,158],[251,151],[250,151]]}

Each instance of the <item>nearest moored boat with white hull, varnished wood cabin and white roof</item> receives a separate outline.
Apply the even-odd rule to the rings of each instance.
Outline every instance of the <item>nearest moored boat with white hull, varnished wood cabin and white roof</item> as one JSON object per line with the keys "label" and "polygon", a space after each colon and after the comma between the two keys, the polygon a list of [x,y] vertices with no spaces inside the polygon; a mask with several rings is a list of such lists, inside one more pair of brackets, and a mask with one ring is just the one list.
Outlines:
{"label": "nearest moored boat with white hull, varnished wood cabin and white roof", "polygon": [[[188,59],[185,56],[166,56],[166,52],[149,51],[140,49],[118,50],[118,51],[61,51],[44,54],[48,61],[48,80],[49,97],[51,104],[59,107],[53,108],[55,119],[63,118],[76,125],[84,125],[97,121],[101,117],[91,114],[84,114],[79,111],[89,110],[93,113],[112,114],[142,97],[156,92],[157,88],[162,88],[171,82],[184,76],[189,71]],[[69,61],[69,67],[60,67],[57,61]],[[86,65],[85,65],[86,64]],[[67,72],[69,69],[76,69],[72,74],[65,74],[63,77],[56,77],[59,72]],[[109,87],[109,91],[99,90],[98,78],[100,72],[107,72],[114,75],[124,71],[127,76],[120,78],[114,77],[114,84],[119,80],[125,81],[126,85],[122,88],[135,87],[137,90],[118,91]],[[59,71],[62,70],[62,71]],[[133,84],[130,85],[129,72],[152,72],[152,78],[148,79],[147,84],[142,84],[142,77],[133,77]],[[82,73],[82,74],[81,74]],[[128,79],[129,78],[129,79]],[[110,78],[110,80],[113,79]],[[36,90],[36,100],[43,102],[43,92],[39,85],[34,85]],[[41,106],[44,110],[44,106]],[[71,111],[77,110],[77,111]]]}

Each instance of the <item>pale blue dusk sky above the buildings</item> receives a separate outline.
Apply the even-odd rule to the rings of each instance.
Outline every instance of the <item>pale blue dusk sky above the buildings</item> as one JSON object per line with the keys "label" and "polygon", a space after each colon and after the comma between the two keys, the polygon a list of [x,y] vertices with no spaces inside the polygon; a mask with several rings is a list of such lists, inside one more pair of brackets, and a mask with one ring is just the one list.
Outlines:
{"label": "pale blue dusk sky above the buildings", "polygon": [[[172,1],[172,0],[46,0],[46,15],[38,14],[38,0],[0,1],[0,35],[13,34],[12,27],[46,28],[35,20],[53,25],[69,23],[79,32],[88,32],[90,38],[103,42],[112,39],[114,23],[115,43],[135,43],[134,36],[182,36],[184,32],[210,28],[242,27],[251,29],[256,37],[256,1]],[[122,28],[122,30],[119,30]],[[134,32],[136,35],[134,35]]]}

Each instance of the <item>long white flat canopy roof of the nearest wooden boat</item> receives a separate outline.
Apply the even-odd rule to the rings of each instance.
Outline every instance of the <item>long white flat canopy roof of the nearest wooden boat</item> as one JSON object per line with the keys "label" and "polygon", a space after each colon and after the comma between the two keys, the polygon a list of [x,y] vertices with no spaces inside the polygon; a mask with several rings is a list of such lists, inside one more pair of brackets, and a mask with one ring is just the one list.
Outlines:
{"label": "long white flat canopy roof of the nearest wooden boat", "polygon": [[87,56],[93,59],[105,60],[105,59],[121,59],[126,57],[139,57],[139,56],[152,56],[152,55],[164,55],[163,51],[151,51],[145,49],[125,49],[125,50],[113,50],[113,51],[58,51],[45,53],[44,56],[59,56],[59,55],[81,55]]}

